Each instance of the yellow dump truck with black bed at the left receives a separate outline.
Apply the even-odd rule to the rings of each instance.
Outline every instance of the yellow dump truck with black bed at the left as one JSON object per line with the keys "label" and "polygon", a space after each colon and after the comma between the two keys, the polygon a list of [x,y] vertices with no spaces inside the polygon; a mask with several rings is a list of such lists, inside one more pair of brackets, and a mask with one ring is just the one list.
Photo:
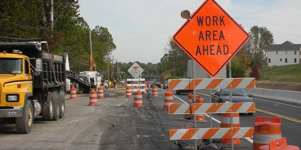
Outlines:
{"label": "yellow dump truck with black bed at the left", "polygon": [[51,55],[47,42],[0,43],[0,123],[27,134],[38,116],[63,118],[65,64],[66,56]]}

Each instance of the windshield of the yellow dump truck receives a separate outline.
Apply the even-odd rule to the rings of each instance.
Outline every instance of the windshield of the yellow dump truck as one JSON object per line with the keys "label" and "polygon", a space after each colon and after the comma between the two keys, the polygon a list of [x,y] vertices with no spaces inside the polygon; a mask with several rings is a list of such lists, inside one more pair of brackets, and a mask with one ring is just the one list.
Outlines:
{"label": "windshield of the yellow dump truck", "polygon": [[22,59],[20,58],[0,58],[0,73],[1,74],[21,74]]}

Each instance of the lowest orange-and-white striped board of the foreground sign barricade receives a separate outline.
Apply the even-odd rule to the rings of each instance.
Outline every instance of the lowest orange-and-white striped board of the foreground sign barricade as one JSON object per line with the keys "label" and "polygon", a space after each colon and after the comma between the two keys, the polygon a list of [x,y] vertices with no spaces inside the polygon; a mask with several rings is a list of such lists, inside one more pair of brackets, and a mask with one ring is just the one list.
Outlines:
{"label": "lowest orange-and-white striped board of the foreground sign barricade", "polygon": [[170,140],[253,137],[254,128],[169,129]]}

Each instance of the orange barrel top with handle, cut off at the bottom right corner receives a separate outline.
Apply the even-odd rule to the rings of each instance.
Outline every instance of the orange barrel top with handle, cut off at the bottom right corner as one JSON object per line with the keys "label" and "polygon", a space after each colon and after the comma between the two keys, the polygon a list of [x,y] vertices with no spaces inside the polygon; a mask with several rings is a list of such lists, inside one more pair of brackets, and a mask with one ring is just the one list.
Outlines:
{"label": "orange barrel top with handle, cut off at the bottom right corner", "polygon": [[269,145],[260,146],[259,150],[300,150],[297,146],[287,145],[286,138],[271,140]]}

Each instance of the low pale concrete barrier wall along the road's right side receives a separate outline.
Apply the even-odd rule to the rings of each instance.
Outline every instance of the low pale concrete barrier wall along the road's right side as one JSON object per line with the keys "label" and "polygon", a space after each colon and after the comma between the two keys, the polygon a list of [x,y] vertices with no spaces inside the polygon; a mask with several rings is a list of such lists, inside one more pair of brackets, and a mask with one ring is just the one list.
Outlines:
{"label": "low pale concrete barrier wall along the road's right side", "polygon": [[301,104],[301,92],[298,91],[272,90],[263,88],[246,88],[245,90],[248,94],[252,94],[254,97]]}

